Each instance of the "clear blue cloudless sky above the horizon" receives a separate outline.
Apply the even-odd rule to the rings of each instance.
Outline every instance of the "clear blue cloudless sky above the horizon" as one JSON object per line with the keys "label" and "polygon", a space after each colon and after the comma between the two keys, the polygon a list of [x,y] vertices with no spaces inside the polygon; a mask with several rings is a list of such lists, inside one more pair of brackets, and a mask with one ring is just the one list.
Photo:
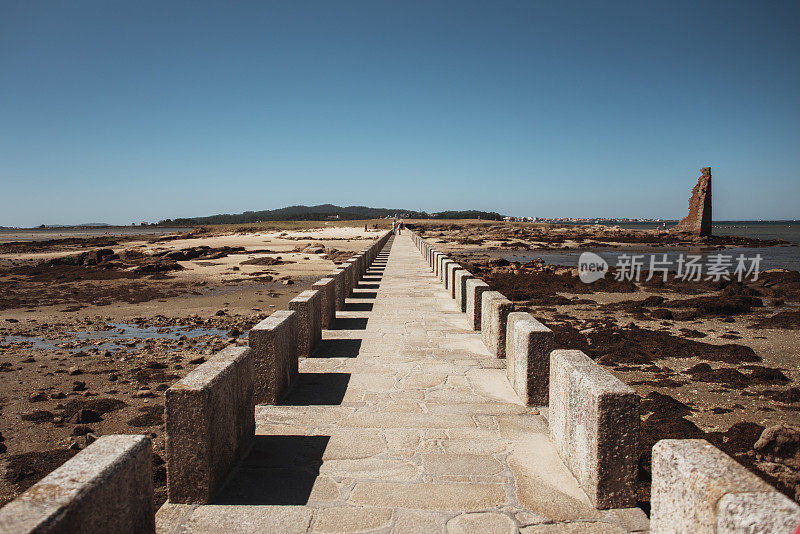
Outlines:
{"label": "clear blue cloudless sky above the horizon", "polygon": [[800,218],[800,3],[0,0],[0,225]]}

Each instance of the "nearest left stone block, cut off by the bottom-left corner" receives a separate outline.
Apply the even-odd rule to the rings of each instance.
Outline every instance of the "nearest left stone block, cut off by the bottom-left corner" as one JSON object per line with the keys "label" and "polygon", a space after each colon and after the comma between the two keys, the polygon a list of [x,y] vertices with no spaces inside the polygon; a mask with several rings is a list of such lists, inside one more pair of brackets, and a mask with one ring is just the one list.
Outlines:
{"label": "nearest left stone block, cut off by the bottom-left corner", "polygon": [[0,532],[154,533],[146,436],[102,436],[0,508]]}

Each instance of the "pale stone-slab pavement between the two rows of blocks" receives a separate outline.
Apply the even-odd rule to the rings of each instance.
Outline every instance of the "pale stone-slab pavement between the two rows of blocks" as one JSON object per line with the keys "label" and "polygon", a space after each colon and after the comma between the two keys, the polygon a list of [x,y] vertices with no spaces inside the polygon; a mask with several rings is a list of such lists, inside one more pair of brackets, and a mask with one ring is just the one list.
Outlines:
{"label": "pale stone-slab pavement between the two rows of blocks", "polygon": [[520,402],[409,236],[337,312],[211,505],[166,504],[159,532],[617,533],[538,410]]}

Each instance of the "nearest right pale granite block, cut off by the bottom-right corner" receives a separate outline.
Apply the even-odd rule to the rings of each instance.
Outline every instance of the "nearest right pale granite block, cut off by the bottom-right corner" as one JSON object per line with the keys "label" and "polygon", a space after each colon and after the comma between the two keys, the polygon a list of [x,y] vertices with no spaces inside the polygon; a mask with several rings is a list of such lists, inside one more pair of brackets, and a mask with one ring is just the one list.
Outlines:
{"label": "nearest right pale granite block, cut off by the bottom-right corner", "polygon": [[650,531],[793,532],[800,507],[704,439],[653,447]]}

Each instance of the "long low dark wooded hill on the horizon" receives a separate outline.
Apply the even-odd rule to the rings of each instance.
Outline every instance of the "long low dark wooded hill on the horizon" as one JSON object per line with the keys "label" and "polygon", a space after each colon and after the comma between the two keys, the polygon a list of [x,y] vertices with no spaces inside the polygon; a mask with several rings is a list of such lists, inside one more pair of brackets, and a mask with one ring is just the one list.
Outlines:
{"label": "long low dark wooded hill on the horizon", "polygon": [[265,221],[324,221],[337,218],[339,220],[379,219],[382,217],[401,216],[406,219],[486,219],[500,220],[499,213],[486,211],[443,211],[429,214],[424,211],[405,209],[370,208],[367,206],[334,206],[322,204],[320,206],[289,206],[275,210],[245,211],[238,214],[209,215],[207,217],[186,217],[179,219],[164,219],[159,221],[160,226],[195,226],[201,224],[242,224]]}

